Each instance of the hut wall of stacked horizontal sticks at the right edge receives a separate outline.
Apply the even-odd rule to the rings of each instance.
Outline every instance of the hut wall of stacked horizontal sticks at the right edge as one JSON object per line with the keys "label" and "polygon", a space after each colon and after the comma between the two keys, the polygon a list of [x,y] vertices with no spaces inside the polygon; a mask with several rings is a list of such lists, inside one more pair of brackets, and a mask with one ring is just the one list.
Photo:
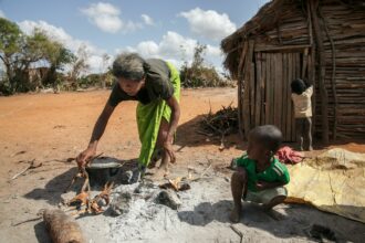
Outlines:
{"label": "hut wall of stacked horizontal sticks at the right edge", "polygon": [[335,51],[334,94],[332,44],[323,29],[330,138],[333,131],[338,138],[365,138],[365,9],[338,4],[338,1],[326,1],[320,8]]}

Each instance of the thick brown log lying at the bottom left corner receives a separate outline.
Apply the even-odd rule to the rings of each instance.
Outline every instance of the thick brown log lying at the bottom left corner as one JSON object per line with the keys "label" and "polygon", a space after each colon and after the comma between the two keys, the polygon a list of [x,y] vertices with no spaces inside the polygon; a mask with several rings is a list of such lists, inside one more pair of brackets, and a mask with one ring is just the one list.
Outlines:
{"label": "thick brown log lying at the bottom left corner", "polygon": [[62,210],[44,210],[43,220],[53,243],[86,243],[79,223]]}

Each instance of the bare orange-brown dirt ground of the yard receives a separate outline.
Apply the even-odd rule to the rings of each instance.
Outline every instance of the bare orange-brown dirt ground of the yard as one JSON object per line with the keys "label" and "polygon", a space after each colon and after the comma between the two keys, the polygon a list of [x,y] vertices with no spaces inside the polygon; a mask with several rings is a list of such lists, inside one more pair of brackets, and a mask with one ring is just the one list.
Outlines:
{"label": "bare orange-brown dirt ground of the yard", "polygon": [[[40,209],[55,209],[58,207],[63,190],[75,172],[75,163],[66,160],[75,157],[87,146],[94,123],[108,94],[108,91],[93,91],[0,97],[1,242],[31,243],[50,241],[44,225],[40,221],[31,221],[20,225],[14,224],[36,218]],[[227,211],[231,207],[228,183],[231,172],[226,167],[231,158],[242,154],[246,145],[238,135],[232,135],[227,138],[227,148],[219,151],[219,139],[208,139],[204,135],[198,135],[195,129],[197,122],[210,108],[215,112],[220,109],[222,105],[228,106],[231,103],[237,104],[236,88],[182,91],[181,118],[175,145],[177,165],[173,170],[186,171],[188,166],[202,170],[205,161],[209,160],[213,165],[210,176],[216,178],[209,183],[194,184],[196,188],[208,187],[209,190],[206,192],[208,194],[202,191],[194,192],[192,190],[192,192],[197,193],[199,200],[207,200],[207,197],[210,197],[209,193],[215,194],[216,191],[215,197],[222,197],[222,201],[210,200],[210,203],[213,203],[210,211],[204,212],[207,214],[205,216],[210,218],[208,220],[196,220],[195,222],[199,222],[198,224],[192,222],[194,216],[196,213],[201,214],[201,212],[195,212],[194,209],[199,209],[202,202],[200,204],[198,201],[196,201],[198,204],[187,203],[188,205],[185,208],[187,213],[185,214],[177,215],[175,211],[169,211],[170,219],[176,218],[176,222],[179,222],[180,230],[175,231],[169,237],[165,237],[168,235],[165,225],[165,232],[159,234],[160,239],[165,237],[165,241],[161,242],[170,242],[173,239],[175,242],[191,242],[195,240],[201,242],[239,242],[237,234],[230,230],[227,215]],[[139,141],[135,122],[135,107],[136,103],[125,102],[116,108],[100,142],[100,152],[126,160],[138,156]],[[365,152],[363,142],[341,141],[330,147],[342,147],[351,151]],[[327,149],[320,146],[317,148],[320,149],[306,156],[315,156]],[[14,175],[27,168],[28,162],[33,159],[36,162],[42,162],[42,166],[25,172],[15,180],[10,180]],[[210,187],[211,184],[212,187]],[[201,198],[199,198],[199,193],[201,193]],[[185,194],[184,197],[195,196]],[[365,239],[364,224],[320,212],[310,207],[281,207],[280,210],[288,214],[289,220],[280,223],[270,220],[268,220],[270,221],[268,223],[264,218],[260,216],[260,213],[254,213],[257,210],[254,207],[251,208],[251,205],[248,207],[249,213],[239,224],[247,241],[313,241],[305,234],[305,229],[313,223],[330,226],[342,241],[361,242]],[[211,218],[211,210],[216,212],[222,209],[223,213],[216,213],[217,219]],[[93,219],[95,219],[95,224],[90,226]],[[118,239],[115,236],[118,233],[113,231],[112,220],[115,221],[115,218],[108,219],[107,215],[97,215],[81,219],[80,223],[87,233],[90,242],[104,242],[106,240],[112,242],[156,242],[158,240],[156,237],[148,239],[148,234],[136,236],[127,235],[126,232],[123,233],[123,239]],[[88,226],[83,226],[87,223]],[[103,230],[104,226],[107,230]],[[176,225],[171,224],[170,226]],[[135,232],[135,234],[137,233]],[[139,232],[139,234],[142,233]]]}

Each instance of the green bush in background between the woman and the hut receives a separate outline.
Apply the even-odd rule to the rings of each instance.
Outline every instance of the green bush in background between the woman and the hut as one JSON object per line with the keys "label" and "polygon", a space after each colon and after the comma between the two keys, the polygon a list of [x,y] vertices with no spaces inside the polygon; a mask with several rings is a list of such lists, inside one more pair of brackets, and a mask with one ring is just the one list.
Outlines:
{"label": "green bush in background between the woman and the hut", "polygon": [[180,80],[184,87],[223,87],[231,82],[221,77],[213,66],[205,65],[204,55],[207,45],[197,44],[191,65],[187,62],[180,67]]}

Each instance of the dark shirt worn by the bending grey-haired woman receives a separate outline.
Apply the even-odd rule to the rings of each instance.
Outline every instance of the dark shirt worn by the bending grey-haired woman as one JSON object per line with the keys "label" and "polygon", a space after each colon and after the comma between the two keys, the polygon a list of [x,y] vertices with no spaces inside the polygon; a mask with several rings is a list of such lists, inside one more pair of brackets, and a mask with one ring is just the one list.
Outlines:
{"label": "dark shirt worn by the bending grey-haired woman", "polygon": [[174,95],[174,86],[170,82],[170,70],[166,62],[157,59],[146,60],[146,84],[140,88],[136,96],[127,95],[115,83],[112,94],[108,99],[108,104],[115,107],[123,101],[139,101],[143,104],[148,104],[155,99],[163,98],[168,99]]}

